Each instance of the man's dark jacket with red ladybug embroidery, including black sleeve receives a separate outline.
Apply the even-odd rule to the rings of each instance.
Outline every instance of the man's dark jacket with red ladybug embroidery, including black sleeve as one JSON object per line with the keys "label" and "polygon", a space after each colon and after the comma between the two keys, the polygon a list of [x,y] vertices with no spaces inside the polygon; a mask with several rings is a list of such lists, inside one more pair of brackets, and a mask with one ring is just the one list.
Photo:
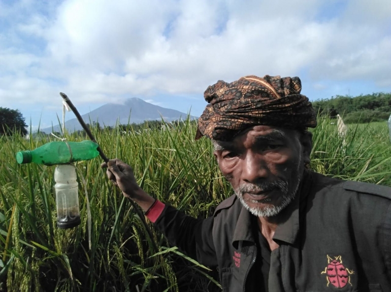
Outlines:
{"label": "man's dark jacket with red ladybug embroidery, including black sleeve", "polygon": [[235,196],[205,220],[165,206],[155,226],[223,291],[391,291],[391,188],[309,173],[280,217],[272,252]]}

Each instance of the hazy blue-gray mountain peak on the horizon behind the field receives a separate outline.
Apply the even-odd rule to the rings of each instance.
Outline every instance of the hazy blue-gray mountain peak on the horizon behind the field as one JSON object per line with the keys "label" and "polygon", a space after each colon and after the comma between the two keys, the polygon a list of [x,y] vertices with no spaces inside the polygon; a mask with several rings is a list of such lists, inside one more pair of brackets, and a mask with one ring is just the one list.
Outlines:
{"label": "hazy blue-gray mountain peak on the horizon behind the field", "polygon": [[[187,114],[175,111],[175,109],[165,108],[146,102],[140,98],[129,98],[123,104],[107,103],[94,109],[88,114],[81,115],[85,123],[99,122],[103,126],[116,126],[118,124],[136,123],[141,124],[144,121],[154,121],[164,119],[166,122],[172,122],[179,119],[186,119]],[[130,119],[129,119],[130,117]],[[190,119],[197,117],[190,116]],[[65,127],[69,132],[82,130],[79,121],[74,118],[65,122]],[[45,133],[60,132],[60,126],[41,129]]]}

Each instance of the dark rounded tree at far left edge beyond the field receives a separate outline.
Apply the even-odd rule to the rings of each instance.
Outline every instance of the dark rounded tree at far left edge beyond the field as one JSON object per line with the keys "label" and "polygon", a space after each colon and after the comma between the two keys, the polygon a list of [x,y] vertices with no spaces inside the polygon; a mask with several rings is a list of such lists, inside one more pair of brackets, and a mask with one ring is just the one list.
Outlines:
{"label": "dark rounded tree at far left edge beyond the field", "polygon": [[0,107],[0,135],[27,134],[27,125],[18,109]]}

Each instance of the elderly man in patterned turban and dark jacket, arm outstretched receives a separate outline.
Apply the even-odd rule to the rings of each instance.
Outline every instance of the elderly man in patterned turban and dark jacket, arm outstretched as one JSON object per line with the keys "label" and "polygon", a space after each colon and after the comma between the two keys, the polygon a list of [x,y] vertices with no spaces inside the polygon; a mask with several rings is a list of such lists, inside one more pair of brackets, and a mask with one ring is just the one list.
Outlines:
{"label": "elderly man in patterned turban and dark jacket, arm outstretched", "polygon": [[196,139],[213,140],[236,194],[205,220],[150,197],[122,161],[102,166],[224,291],[391,291],[391,189],[307,169],[316,116],[300,91],[279,76],[208,87]]}

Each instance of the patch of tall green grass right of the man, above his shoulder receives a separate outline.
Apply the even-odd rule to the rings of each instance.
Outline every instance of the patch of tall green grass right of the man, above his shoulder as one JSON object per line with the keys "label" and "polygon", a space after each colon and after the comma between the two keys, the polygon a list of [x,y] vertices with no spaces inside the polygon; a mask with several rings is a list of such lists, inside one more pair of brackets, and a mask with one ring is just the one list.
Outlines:
{"label": "patch of tall green grass right of the man, above his shoulder", "polygon": [[311,168],[325,175],[391,186],[391,144],[386,122],[349,125],[338,134],[333,120],[312,129]]}

